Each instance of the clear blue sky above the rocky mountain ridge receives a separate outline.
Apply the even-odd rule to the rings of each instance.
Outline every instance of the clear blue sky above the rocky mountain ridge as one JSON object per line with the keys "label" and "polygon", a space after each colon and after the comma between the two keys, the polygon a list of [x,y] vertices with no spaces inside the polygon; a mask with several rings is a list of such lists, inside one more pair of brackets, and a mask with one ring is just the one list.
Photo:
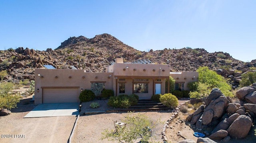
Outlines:
{"label": "clear blue sky above the rocky mountain ridge", "polygon": [[108,33],[140,51],[183,47],[256,59],[256,0],[0,0],[0,50],[55,49]]}

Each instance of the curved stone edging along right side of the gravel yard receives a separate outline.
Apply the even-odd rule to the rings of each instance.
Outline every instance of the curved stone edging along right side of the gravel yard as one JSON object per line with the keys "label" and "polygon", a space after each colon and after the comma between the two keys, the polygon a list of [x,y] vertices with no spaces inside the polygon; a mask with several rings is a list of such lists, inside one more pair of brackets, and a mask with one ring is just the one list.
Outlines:
{"label": "curved stone edging along right side of the gravel yard", "polygon": [[[174,110],[174,114],[172,115],[172,117],[170,119],[168,119],[165,124],[164,124],[164,127],[162,128],[162,139],[164,140],[164,142],[168,141],[167,137],[166,137],[166,134],[165,134],[165,131],[166,131],[166,128],[168,128],[169,124],[173,121],[173,119],[177,118],[178,117],[178,114],[180,112],[180,108],[184,105],[187,105],[187,104],[190,104],[190,100],[189,101],[186,101],[185,103],[182,103],[180,104],[175,110]],[[182,135],[180,135],[182,138],[184,138]]]}

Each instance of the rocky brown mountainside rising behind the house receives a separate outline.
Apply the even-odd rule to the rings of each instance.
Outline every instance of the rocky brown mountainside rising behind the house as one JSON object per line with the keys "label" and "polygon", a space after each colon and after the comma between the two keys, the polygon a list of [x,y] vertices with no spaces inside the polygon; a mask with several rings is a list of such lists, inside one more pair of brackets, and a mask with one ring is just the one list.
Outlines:
{"label": "rocky brown mountainside rising behind the house", "polygon": [[115,58],[122,57],[124,62],[149,59],[156,64],[168,64],[170,71],[196,71],[198,67],[210,69],[239,70],[245,72],[256,67],[256,60],[250,63],[232,58],[228,53],[208,53],[204,49],[163,49],[138,51],[109,34],[96,35],[88,39],[84,36],[70,37],[55,50],[35,51],[34,49],[8,49],[0,52],[0,70],[7,70],[4,80],[15,81],[34,79],[34,69],[42,65],[52,65],[58,69],[76,68],[87,72],[105,72]]}

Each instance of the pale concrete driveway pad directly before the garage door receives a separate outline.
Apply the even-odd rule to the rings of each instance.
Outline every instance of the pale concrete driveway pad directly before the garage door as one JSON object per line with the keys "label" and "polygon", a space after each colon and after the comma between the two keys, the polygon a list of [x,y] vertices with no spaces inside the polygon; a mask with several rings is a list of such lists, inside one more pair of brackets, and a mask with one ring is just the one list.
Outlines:
{"label": "pale concrete driveway pad directly before the garage door", "polygon": [[39,104],[24,118],[53,117],[53,116],[78,116],[79,103],[48,103]]}

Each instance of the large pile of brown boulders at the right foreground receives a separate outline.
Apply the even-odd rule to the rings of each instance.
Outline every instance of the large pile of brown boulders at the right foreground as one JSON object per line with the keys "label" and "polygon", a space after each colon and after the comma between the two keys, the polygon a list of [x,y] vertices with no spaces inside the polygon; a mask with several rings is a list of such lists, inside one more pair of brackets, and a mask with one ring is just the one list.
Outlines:
{"label": "large pile of brown boulders at the right foreground", "polygon": [[232,102],[215,88],[194,113],[187,117],[191,127],[203,130],[212,140],[244,139],[256,118],[256,83],[236,92]]}

